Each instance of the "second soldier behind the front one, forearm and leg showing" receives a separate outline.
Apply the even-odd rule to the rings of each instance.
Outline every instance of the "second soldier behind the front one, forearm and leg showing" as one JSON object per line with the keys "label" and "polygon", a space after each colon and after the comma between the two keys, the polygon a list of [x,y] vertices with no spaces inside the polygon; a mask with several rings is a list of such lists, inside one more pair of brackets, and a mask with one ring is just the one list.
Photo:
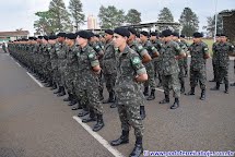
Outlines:
{"label": "second soldier behind the front one, forearm and leg showing", "polygon": [[[151,58],[156,58],[158,56],[158,52],[156,48],[152,45],[152,43],[149,40],[149,33],[148,32],[141,32],[140,33],[140,39],[143,45],[143,47],[148,50]],[[144,83],[144,96],[149,96],[149,87],[151,88],[151,95],[146,98],[146,100],[153,100],[155,99],[155,88],[156,83],[154,78],[154,67],[153,62],[144,63],[144,67],[146,68],[146,72],[149,75],[148,82]]]}

